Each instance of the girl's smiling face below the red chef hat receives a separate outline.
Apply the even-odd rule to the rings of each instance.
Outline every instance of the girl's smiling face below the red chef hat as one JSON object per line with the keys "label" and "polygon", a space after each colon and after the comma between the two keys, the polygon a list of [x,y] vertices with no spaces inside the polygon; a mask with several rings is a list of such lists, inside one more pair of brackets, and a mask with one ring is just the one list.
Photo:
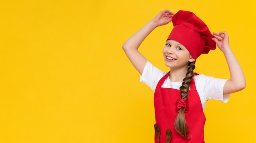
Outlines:
{"label": "girl's smiling face below the red chef hat", "polygon": [[184,45],[173,39],[166,41],[163,56],[165,65],[171,69],[187,69],[189,62],[195,61]]}

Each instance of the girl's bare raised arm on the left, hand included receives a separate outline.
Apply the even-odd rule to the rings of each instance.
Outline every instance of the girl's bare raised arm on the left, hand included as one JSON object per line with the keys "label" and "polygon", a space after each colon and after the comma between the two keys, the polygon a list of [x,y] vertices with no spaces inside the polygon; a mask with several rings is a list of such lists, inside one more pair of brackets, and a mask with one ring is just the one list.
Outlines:
{"label": "girl's bare raised arm on the left, hand included", "polygon": [[175,13],[166,9],[161,11],[153,20],[130,37],[123,45],[124,52],[137,71],[142,74],[146,65],[146,58],[138,51],[139,45],[156,27],[168,24]]}

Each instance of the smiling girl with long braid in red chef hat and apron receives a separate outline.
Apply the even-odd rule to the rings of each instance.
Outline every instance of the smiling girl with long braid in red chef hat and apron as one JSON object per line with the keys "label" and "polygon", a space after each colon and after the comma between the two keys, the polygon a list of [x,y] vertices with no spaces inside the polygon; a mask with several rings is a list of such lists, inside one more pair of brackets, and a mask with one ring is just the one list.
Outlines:
{"label": "smiling girl with long braid in red chef hat and apron", "polygon": [[[173,30],[163,48],[164,63],[170,72],[154,67],[138,51],[139,45],[158,26],[173,22]],[[230,79],[219,79],[193,72],[201,54],[218,48],[223,52]],[[226,32],[211,33],[194,13],[166,9],[130,37],[123,45],[132,65],[141,74],[140,82],[154,91],[155,120],[166,142],[172,132],[173,143],[204,143],[204,108],[207,100],[227,102],[229,94],[245,88],[245,76],[229,47]],[[155,138],[155,143],[157,139]]]}

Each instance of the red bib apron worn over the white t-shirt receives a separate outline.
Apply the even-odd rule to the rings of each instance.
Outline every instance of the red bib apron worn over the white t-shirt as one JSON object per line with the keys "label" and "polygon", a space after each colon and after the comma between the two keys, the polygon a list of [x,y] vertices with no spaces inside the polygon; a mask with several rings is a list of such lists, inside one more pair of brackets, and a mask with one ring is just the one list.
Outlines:
{"label": "red bib apron worn over the white t-shirt", "polygon": [[[170,72],[159,80],[155,89],[154,106],[155,106],[155,121],[160,128],[160,143],[166,143],[166,129],[172,132],[171,143],[204,143],[204,124],[205,116],[202,109],[202,104],[198,92],[195,89],[195,81],[191,80],[190,90],[187,96],[189,101],[189,111],[185,113],[186,124],[190,130],[190,140],[184,139],[174,127],[174,121],[177,117],[176,102],[180,99],[180,90],[171,88],[161,88],[164,80]],[[155,143],[157,139],[155,137]]]}

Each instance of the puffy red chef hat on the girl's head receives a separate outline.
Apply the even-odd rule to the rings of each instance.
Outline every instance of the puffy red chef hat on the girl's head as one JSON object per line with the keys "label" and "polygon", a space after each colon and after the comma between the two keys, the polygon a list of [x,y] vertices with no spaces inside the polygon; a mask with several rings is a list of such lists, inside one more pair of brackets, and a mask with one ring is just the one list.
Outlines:
{"label": "puffy red chef hat on the girl's head", "polygon": [[216,49],[216,43],[211,40],[213,36],[207,25],[194,13],[180,10],[173,15],[172,22],[174,27],[168,39],[184,45],[195,60],[201,54]]}

